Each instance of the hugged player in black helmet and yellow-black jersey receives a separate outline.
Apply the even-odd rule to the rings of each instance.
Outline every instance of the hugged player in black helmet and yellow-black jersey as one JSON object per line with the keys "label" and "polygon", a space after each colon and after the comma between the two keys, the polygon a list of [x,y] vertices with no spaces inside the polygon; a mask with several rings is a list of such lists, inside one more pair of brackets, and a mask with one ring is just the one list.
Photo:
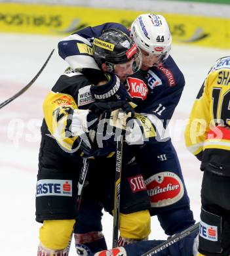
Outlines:
{"label": "hugged player in black helmet and yellow-black jersey", "polygon": [[[84,223],[89,223],[89,226],[92,224],[96,230],[91,232],[87,239],[96,238],[98,246],[106,249],[101,224],[94,220],[102,217],[102,207],[105,207],[109,213],[113,211],[111,198],[114,195],[116,167],[115,155],[111,156],[110,153],[116,150],[116,133],[111,133],[116,127],[114,123],[111,128],[115,129],[105,131],[102,127],[103,129],[100,130],[100,125],[101,123],[103,125],[105,120],[101,118],[107,107],[110,112],[113,110],[117,112],[119,108],[123,110],[126,108],[127,112],[133,111],[126,102],[126,98],[130,96],[119,77],[123,78],[138,71],[142,58],[140,49],[120,30],[105,30],[96,39],[97,43],[99,40],[113,47],[113,51],[110,51],[106,46],[107,51],[104,51],[104,48],[94,45],[94,56],[97,54],[99,58],[103,52],[102,57],[104,62],[110,65],[110,72],[104,75],[102,71],[96,73],[90,70],[83,74],[83,70],[81,73],[68,68],[52,87],[52,91],[48,93],[43,103],[44,119],[41,127],[36,188],[36,221],[43,223],[39,229],[38,256],[68,255],[73,227],[76,220],[82,221],[77,210],[77,182],[83,165],[82,156],[86,158],[93,156],[95,159],[88,160],[88,176],[79,211],[83,212]],[[105,67],[104,62],[102,68]],[[108,70],[105,68],[104,71]],[[93,83],[92,79],[94,79]],[[113,97],[117,100],[111,102]],[[97,98],[103,98],[103,102],[96,100]],[[108,118],[109,121],[112,120],[111,117],[112,115]],[[143,126],[145,129],[146,124],[143,123]],[[123,127],[120,126],[119,131],[121,129]],[[111,136],[99,139],[102,135],[101,131],[103,134],[105,131],[105,135],[110,132]],[[140,133],[142,135],[142,132]],[[128,136],[125,135],[125,138],[126,142],[131,142]],[[110,157],[107,158],[108,155]],[[123,168],[121,181],[123,198],[120,203],[120,230],[124,236],[128,234],[132,239],[142,240],[150,233],[149,196],[140,169],[133,164],[131,166],[128,163],[130,159],[126,160],[127,157],[123,158],[123,163],[127,161],[127,164]],[[138,177],[143,182],[143,187],[135,192],[132,191],[129,182],[132,177]],[[83,204],[89,205],[84,211]],[[89,211],[94,213],[90,214],[90,217]],[[81,240],[83,239],[85,237],[82,236]],[[88,255],[88,248],[80,246],[81,240],[76,247],[77,253]]]}

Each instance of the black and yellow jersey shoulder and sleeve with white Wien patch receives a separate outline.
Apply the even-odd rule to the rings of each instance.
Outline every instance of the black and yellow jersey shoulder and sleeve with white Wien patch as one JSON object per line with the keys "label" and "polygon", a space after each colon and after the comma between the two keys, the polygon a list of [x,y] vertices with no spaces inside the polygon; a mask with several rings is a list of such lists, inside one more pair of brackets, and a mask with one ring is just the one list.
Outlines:
{"label": "black and yellow jersey shoulder and sleeve with white Wien patch", "polygon": [[45,98],[43,126],[46,125],[47,129],[42,130],[48,131],[64,150],[75,151],[77,136],[71,133],[73,112],[84,112],[92,102],[94,98],[88,79],[68,68]]}

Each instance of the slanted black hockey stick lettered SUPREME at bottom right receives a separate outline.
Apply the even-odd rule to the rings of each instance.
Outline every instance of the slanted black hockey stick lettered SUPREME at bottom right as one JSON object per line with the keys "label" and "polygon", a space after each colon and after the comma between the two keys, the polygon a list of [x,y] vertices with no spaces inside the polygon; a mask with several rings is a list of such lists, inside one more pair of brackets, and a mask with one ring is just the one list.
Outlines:
{"label": "slanted black hockey stick lettered SUPREME at bottom right", "polygon": [[176,242],[182,240],[186,236],[189,236],[189,234],[199,230],[199,224],[200,223],[196,223],[193,226],[189,226],[189,228],[183,230],[182,232],[180,232],[178,234],[175,234],[174,236],[172,236],[171,238],[169,238],[168,240],[166,240],[162,244],[159,244],[159,245],[155,246],[153,249],[150,249],[149,251],[142,254],[141,256],[151,256],[153,254],[159,253],[160,251],[163,251],[163,249],[165,249],[166,247],[168,247],[172,244],[175,244]]}

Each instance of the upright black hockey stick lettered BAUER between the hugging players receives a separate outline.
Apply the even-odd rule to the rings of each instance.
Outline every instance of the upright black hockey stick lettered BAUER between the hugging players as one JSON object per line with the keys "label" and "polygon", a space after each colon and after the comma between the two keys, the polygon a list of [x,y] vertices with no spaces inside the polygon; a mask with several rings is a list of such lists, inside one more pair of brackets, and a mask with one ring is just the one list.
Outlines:
{"label": "upright black hockey stick lettered BAUER between the hugging players", "polygon": [[121,194],[121,166],[123,157],[123,135],[117,138],[115,191],[114,191],[114,213],[113,213],[113,248],[117,247],[119,233],[119,213]]}

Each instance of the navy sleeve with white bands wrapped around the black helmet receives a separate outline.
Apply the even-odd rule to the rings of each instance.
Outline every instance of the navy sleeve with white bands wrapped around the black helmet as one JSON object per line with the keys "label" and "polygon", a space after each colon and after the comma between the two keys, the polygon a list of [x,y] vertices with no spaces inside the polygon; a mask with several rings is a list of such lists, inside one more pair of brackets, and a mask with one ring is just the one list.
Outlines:
{"label": "navy sleeve with white bands wrapped around the black helmet", "polygon": [[115,28],[129,35],[125,26],[109,22],[95,27],[83,28],[75,32],[58,43],[58,53],[66,60],[69,66],[75,68],[98,69],[96,62],[92,58],[92,41],[94,37],[99,37],[103,30]]}

